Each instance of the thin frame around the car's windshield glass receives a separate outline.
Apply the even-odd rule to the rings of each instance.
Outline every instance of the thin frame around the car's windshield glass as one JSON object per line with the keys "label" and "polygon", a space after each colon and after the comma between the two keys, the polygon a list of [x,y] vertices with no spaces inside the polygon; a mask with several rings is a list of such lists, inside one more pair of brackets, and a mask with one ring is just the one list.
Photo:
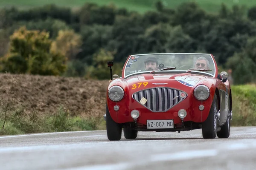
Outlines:
{"label": "thin frame around the car's windshield glass", "polygon": [[[201,74],[201,75],[207,75],[209,77],[216,77],[217,73],[218,73],[218,68],[217,68],[217,64],[215,62],[215,59],[214,59],[214,56],[212,54],[208,54],[208,53],[150,53],[150,54],[134,54],[134,55],[130,55],[125,64],[124,64],[124,67],[122,69],[122,77],[124,79],[128,78],[128,77],[131,77],[131,76],[134,76],[134,75],[138,75],[138,74],[150,74],[151,71],[140,71],[138,73],[133,73],[133,74],[128,74],[128,75],[125,75],[125,69],[126,69],[126,66],[128,65],[128,61],[130,61],[131,57],[135,57],[135,56],[145,56],[145,55],[166,55],[166,54],[195,54],[195,55],[208,55],[211,57],[212,59],[212,62],[214,63],[214,75],[213,74],[209,74],[207,72],[204,72],[204,71],[190,71],[189,73],[194,73],[194,74]],[[166,70],[166,71],[155,71],[154,73],[152,74],[172,74],[172,73],[177,73],[177,74],[181,74],[181,73],[186,73],[186,70]]]}

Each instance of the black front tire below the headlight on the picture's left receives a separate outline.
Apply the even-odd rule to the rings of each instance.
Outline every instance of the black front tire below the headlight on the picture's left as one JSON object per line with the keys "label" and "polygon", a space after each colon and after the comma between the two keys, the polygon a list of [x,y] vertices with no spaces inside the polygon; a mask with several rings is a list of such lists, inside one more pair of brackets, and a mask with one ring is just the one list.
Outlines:
{"label": "black front tire below the headlight on the picture's left", "polygon": [[119,123],[113,121],[108,110],[108,105],[106,105],[106,129],[108,140],[119,141],[121,139],[122,126]]}

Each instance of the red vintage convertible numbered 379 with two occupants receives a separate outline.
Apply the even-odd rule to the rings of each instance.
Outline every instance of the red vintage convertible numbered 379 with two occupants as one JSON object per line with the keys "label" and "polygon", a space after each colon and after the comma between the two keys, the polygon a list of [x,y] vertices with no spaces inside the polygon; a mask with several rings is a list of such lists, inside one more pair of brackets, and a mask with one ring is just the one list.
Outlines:
{"label": "red vintage convertible numbered 379 with two occupants", "polygon": [[[113,62],[108,62],[111,68]],[[135,139],[138,131],[202,129],[204,139],[228,138],[232,95],[227,72],[212,54],[130,55],[122,77],[111,77],[106,120],[109,140]]]}

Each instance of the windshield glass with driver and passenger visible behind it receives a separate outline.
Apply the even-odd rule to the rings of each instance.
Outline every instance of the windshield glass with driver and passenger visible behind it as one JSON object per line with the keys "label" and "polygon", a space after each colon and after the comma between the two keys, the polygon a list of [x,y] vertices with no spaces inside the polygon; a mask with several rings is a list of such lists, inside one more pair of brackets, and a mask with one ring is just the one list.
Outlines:
{"label": "windshield glass with driver and passenger visible behind it", "polygon": [[[202,71],[202,69],[207,70]],[[129,58],[125,65],[125,77],[139,72],[156,74],[177,71],[189,73],[200,71],[214,77],[215,69],[210,54],[139,54]]]}

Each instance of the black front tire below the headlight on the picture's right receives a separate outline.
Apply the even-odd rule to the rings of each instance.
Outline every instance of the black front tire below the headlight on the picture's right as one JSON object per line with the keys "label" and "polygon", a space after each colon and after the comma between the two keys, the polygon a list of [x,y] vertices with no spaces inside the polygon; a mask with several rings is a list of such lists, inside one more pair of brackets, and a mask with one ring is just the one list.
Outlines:
{"label": "black front tire below the headlight on the picture's right", "polygon": [[217,114],[218,114],[218,98],[214,94],[212,106],[207,119],[202,123],[202,134],[204,139],[215,139],[217,135]]}

